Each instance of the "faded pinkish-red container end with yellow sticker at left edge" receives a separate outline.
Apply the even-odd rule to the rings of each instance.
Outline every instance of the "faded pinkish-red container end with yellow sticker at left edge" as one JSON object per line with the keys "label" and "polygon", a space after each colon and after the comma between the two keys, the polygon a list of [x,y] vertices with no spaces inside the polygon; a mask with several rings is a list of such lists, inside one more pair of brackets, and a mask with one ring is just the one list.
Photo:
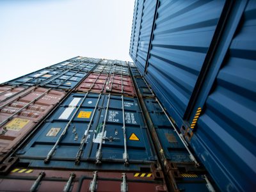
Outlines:
{"label": "faded pinkish-red container end with yellow sticker at left edge", "polygon": [[[17,89],[19,90],[19,87]],[[0,162],[19,141],[26,138],[38,121],[47,115],[65,94],[49,88],[31,87],[1,102]]]}

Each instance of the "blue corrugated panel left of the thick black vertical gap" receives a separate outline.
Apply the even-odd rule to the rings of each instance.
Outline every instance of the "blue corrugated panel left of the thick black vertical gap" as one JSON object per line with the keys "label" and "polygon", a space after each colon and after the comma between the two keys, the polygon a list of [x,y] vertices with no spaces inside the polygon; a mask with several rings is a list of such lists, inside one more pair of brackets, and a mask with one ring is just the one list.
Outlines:
{"label": "blue corrugated panel left of the thick black vertical gap", "polygon": [[[225,1],[161,1],[148,60],[147,76],[166,108],[181,117]],[[161,96],[160,96],[161,97]]]}

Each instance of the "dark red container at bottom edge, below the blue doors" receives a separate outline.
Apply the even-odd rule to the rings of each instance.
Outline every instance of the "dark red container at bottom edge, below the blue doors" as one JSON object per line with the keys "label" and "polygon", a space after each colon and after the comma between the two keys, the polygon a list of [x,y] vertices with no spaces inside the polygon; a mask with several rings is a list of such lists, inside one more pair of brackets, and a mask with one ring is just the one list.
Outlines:
{"label": "dark red container at bottom edge, below the blue doors", "polygon": [[159,172],[73,172],[14,168],[9,175],[0,176],[0,185],[0,191],[167,191]]}

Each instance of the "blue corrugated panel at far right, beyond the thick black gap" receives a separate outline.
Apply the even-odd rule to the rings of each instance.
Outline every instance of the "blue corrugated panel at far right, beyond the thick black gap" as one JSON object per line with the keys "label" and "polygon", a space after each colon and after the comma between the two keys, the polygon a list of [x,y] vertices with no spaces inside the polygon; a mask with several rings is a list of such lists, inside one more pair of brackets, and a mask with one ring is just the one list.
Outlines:
{"label": "blue corrugated panel at far right, beyond the thick black gap", "polygon": [[250,1],[191,138],[191,145],[224,191],[255,189],[255,12],[255,1]]}

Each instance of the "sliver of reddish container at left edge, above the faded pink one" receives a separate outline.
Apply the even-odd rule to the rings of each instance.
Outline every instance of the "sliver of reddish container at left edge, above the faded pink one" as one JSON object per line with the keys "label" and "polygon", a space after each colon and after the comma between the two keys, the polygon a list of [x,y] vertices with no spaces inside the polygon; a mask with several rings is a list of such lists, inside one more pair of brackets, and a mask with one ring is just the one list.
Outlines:
{"label": "sliver of reddish container at left edge, above the faded pink one", "polygon": [[28,87],[26,88],[22,86],[8,86],[8,85],[0,86],[0,105],[1,105],[1,102],[4,102],[4,100],[10,99],[10,97],[17,95],[26,89],[28,89]]}

